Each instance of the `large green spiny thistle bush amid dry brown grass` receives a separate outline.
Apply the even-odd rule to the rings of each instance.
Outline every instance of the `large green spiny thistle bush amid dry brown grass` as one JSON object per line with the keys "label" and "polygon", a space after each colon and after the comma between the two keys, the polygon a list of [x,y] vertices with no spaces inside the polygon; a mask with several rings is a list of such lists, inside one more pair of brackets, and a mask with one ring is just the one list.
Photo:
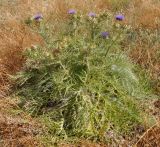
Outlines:
{"label": "large green spiny thistle bush amid dry brown grass", "polygon": [[126,28],[109,13],[69,15],[58,40],[25,52],[16,77],[20,106],[43,115],[50,133],[62,138],[105,142],[107,132],[129,134],[143,124],[135,96],[145,87],[120,49]]}

